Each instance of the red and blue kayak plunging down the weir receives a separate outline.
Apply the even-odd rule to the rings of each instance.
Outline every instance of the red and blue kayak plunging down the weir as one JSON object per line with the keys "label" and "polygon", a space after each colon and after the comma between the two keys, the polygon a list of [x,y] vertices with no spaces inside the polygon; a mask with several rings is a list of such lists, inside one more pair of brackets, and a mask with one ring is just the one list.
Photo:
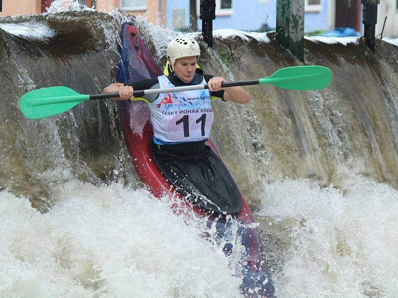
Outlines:
{"label": "red and blue kayak plunging down the weir", "polygon": [[[155,78],[162,75],[162,69],[149,52],[140,38],[137,28],[132,23],[124,23],[120,32],[121,46],[120,65],[117,72],[117,81],[122,83],[133,82],[143,78]],[[126,147],[131,161],[140,180],[150,189],[155,197],[169,196],[174,200],[175,212],[184,212],[190,208],[198,217],[207,217],[207,226],[215,224],[217,233],[221,237],[228,237],[230,221],[225,215],[209,214],[206,210],[193,205],[175,191],[158,169],[150,150],[153,136],[149,119],[148,104],[143,101],[119,101],[119,111]],[[214,152],[210,141],[206,142]],[[271,281],[268,267],[260,250],[258,229],[250,227],[254,223],[252,213],[241,197],[241,210],[232,215],[240,224],[236,236],[242,239],[246,253],[241,258],[242,285],[241,292],[245,297],[274,297],[274,286]],[[225,254],[233,250],[232,244],[223,247]]]}

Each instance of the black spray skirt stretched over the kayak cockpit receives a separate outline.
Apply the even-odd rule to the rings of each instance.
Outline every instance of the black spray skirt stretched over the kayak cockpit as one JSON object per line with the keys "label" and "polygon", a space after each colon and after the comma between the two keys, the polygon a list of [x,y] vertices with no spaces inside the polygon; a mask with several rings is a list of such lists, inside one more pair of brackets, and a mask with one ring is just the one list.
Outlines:
{"label": "black spray skirt stretched over the kayak cockpit", "polygon": [[153,142],[150,147],[163,176],[193,204],[207,212],[240,212],[240,192],[224,163],[210,147],[204,146],[202,152],[192,155],[170,152],[163,149],[166,146],[159,149]]}

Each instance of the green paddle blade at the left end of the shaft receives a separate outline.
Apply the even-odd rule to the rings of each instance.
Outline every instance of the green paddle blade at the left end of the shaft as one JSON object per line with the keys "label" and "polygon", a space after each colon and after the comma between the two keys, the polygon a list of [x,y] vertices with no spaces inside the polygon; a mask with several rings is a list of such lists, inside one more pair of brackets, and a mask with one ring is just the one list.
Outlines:
{"label": "green paddle blade at the left end of the shaft", "polygon": [[19,108],[26,118],[39,119],[61,114],[86,100],[90,100],[90,95],[79,94],[71,88],[48,87],[24,94]]}

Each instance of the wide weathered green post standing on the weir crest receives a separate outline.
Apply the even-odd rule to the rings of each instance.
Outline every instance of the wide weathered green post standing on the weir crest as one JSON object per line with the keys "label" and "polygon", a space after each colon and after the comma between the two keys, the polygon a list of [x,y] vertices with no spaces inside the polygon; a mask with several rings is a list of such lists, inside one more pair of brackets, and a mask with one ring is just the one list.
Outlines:
{"label": "wide weathered green post standing on the weir crest", "polygon": [[304,0],[277,0],[277,41],[304,62]]}

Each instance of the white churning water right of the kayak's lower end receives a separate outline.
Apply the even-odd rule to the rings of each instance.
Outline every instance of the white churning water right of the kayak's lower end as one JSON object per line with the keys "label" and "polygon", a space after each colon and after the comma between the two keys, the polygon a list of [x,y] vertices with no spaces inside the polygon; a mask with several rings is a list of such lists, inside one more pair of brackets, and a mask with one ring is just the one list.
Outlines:
{"label": "white churning water right of the kayak's lower end", "polygon": [[278,235],[265,251],[278,259],[270,265],[279,298],[396,297],[397,190],[364,182],[343,191],[307,180],[265,189],[256,216]]}

